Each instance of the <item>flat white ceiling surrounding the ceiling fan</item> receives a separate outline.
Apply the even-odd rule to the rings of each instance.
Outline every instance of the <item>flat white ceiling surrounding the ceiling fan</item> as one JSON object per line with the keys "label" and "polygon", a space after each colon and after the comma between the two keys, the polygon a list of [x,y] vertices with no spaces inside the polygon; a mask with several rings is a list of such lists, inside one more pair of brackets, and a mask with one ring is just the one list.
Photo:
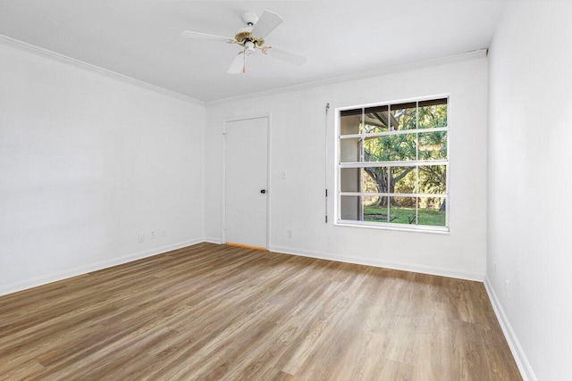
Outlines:
{"label": "flat white ceiling surrounding the ceiling fan", "polygon": [[[501,0],[0,0],[0,35],[209,102],[461,54],[489,46]],[[226,70],[246,11],[284,22],[266,42],[305,55],[299,67],[257,51]]]}

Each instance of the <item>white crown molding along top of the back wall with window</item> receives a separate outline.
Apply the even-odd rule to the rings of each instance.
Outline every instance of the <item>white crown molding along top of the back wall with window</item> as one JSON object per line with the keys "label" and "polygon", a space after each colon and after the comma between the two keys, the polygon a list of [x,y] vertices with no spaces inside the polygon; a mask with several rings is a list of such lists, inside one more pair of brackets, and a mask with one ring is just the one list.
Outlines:
{"label": "white crown molding along top of the back wall with window", "polygon": [[317,80],[317,81],[313,81],[313,82],[307,82],[307,83],[304,83],[301,85],[294,85],[294,86],[290,86],[290,87],[280,87],[280,88],[276,88],[273,90],[262,91],[262,92],[258,92],[258,93],[247,94],[247,95],[231,96],[229,98],[217,99],[214,101],[207,101],[207,102],[205,102],[205,104],[206,104],[206,106],[212,106],[212,105],[216,105],[216,104],[226,104],[226,103],[235,102],[235,101],[258,98],[261,96],[278,95],[278,94],[287,93],[290,91],[303,90],[306,88],[323,87],[323,86],[333,85],[336,83],[348,82],[350,80],[381,77],[383,75],[387,75],[387,74],[391,74],[391,73],[397,73],[400,71],[422,69],[422,68],[426,68],[426,67],[430,67],[430,66],[441,65],[441,64],[445,64],[445,63],[451,63],[451,62],[461,62],[461,61],[474,60],[476,58],[485,57],[487,53],[488,53],[488,49],[486,49],[486,48],[478,49],[478,50],[473,50],[473,51],[465,52],[465,53],[461,53],[461,54],[448,55],[448,56],[442,57],[442,58],[434,58],[432,60],[425,60],[425,61],[419,61],[419,62],[406,63],[406,64],[402,64],[402,65],[388,66],[385,68],[375,69],[375,70],[360,71],[360,72],[357,72],[354,74],[349,74],[349,75],[345,75],[345,76],[341,76],[341,77],[334,77],[332,79],[323,79],[323,80]]}

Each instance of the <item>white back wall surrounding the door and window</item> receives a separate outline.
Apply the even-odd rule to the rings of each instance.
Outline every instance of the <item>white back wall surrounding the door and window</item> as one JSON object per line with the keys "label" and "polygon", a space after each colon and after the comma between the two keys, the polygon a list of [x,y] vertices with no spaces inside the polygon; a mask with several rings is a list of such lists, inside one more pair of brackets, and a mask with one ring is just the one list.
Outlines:
{"label": "white back wall surrounding the door and window", "polygon": [[[271,114],[269,248],[340,261],[482,280],[485,272],[484,56],[276,95],[210,104],[206,112],[206,236],[221,239],[223,119]],[[334,227],[333,109],[450,93],[450,235]],[[330,160],[324,164],[324,107]],[[281,178],[285,170],[287,178]],[[324,223],[327,170],[330,221]],[[449,205],[448,205],[449,206]],[[294,237],[287,237],[293,229]]]}

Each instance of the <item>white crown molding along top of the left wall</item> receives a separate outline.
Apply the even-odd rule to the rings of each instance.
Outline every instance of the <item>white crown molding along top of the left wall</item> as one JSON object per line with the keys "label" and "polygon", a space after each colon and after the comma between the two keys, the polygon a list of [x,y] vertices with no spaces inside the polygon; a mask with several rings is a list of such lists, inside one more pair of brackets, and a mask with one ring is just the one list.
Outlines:
{"label": "white crown molding along top of the left wall", "polygon": [[12,46],[12,47],[18,48],[20,50],[23,50],[25,52],[37,54],[39,56],[49,58],[49,59],[52,59],[52,60],[57,61],[57,62],[63,62],[66,64],[70,64],[72,66],[75,66],[75,67],[83,69],[83,70],[96,72],[97,74],[101,74],[107,78],[117,79],[117,80],[120,80],[124,83],[128,83],[130,85],[134,85],[137,87],[143,87],[147,90],[151,90],[151,91],[154,91],[154,92],[159,93],[159,94],[169,95],[169,96],[172,96],[174,98],[181,99],[181,101],[186,101],[186,102],[189,102],[191,104],[199,104],[201,106],[206,105],[205,102],[200,101],[200,100],[193,98],[191,96],[182,95],[181,93],[177,93],[175,91],[168,90],[164,87],[158,87],[156,85],[151,85],[150,83],[144,82],[142,80],[134,79],[134,78],[128,77],[126,75],[120,74],[118,72],[101,68],[99,66],[93,65],[93,64],[88,63],[88,62],[76,60],[75,58],[68,57],[67,55],[55,53],[55,52],[52,52],[51,50],[47,50],[47,49],[44,49],[44,48],[39,47],[39,46],[34,46],[34,45],[25,43],[23,41],[20,41],[20,40],[11,38],[11,37],[0,35],[0,43],[2,43],[5,46]]}

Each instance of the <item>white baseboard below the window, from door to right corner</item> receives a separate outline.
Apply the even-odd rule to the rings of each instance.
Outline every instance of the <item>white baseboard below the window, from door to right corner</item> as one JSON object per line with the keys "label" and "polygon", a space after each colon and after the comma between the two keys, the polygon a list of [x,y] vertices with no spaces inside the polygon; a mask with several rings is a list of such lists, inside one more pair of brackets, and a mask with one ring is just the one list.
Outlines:
{"label": "white baseboard below the window, from door to right corner", "polygon": [[456,277],[458,279],[475,280],[477,282],[483,282],[484,274],[478,274],[468,271],[461,271],[456,269],[444,269],[436,268],[432,266],[425,265],[415,265],[411,263],[399,262],[399,261],[380,261],[371,258],[363,257],[353,257],[348,255],[339,255],[332,253],[320,253],[311,252],[307,250],[291,249],[289,247],[282,246],[269,246],[268,250],[276,253],[286,253],[292,255],[301,255],[303,257],[319,258],[322,260],[330,261],[340,261],[348,263],[356,263],[366,266],[381,267],[386,269],[399,269],[403,271],[419,272],[423,274],[437,275],[441,277]]}

